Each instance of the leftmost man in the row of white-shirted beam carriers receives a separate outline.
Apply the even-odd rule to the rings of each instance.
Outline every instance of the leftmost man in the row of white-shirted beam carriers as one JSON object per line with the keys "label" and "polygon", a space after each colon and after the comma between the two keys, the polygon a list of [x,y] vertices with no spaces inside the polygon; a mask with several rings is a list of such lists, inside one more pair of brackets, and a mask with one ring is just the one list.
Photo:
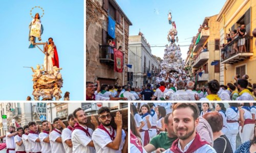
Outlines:
{"label": "leftmost man in the row of white-shirted beam carriers", "polygon": [[15,153],[15,142],[14,142],[14,136],[16,136],[18,132],[15,132],[15,127],[10,126],[9,132],[6,133],[6,147],[7,147],[7,153]]}

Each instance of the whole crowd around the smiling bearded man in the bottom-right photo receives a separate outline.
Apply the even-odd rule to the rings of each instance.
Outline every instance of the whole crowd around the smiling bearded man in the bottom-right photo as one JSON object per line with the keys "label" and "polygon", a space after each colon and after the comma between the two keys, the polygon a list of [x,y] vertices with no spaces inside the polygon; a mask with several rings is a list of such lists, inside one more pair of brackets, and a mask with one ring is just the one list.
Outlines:
{"label": "whole crowd around the smiling bearded man in the bottom-right photo", "polygon": [[256,103],[228,104],[226,109],[223,103],[133,103],[130,150],[255,152]]}

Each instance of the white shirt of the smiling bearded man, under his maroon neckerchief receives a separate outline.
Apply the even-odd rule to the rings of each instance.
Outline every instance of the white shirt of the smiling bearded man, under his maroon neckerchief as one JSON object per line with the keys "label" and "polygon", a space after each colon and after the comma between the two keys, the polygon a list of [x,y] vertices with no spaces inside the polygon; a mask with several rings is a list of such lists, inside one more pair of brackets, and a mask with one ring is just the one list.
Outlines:
{"label": "white shirt of the smiling bearded man, under his maroon neckerchief", "polygon": [[[179,141],[179,144],[178,144],[178,147],[179,149],[181,150],[181,152],[186,152],[186,150],[189,148],[189,146],[191,145],[191,143],[194,141],[191,140],[185,147],[184,147],[184,150],[181,149],[181,146],[180,146],[180,141]],[[215,151],[214,148],[212,148],[209,144],[205,144],[203,146],[201,146],[200,148],[198,148],[196,151],[194,151],[193,153],[201,153],[201,152],[204,152],[204,153],[217,153]],[[166,151],[164,151],[164,153],[175,153],[173,152],[172,150],[170,149],[167,149]]]}

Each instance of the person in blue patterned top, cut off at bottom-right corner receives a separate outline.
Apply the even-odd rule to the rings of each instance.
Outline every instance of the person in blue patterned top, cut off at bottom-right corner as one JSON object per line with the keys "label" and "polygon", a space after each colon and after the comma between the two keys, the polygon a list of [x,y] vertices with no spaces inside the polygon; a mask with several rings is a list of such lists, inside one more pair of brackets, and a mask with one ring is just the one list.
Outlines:
{"label": "person in blue patterned top, cut off at bottom-right corner", "polygon": [[253,139],[248,140],[241,144],[234,153],[250,153],[256,152],[256,124],[254,124]]}

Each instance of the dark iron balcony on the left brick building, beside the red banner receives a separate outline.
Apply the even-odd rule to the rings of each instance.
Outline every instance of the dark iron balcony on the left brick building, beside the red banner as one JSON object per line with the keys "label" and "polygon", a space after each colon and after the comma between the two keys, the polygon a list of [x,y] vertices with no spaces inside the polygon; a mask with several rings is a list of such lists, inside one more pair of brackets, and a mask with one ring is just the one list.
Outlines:
{"label": "dark iron balcony on the left brick building, beside the red banner", "polygon": [[114,65],[114,47],[110,45],[99,45],[99,61],[100,63]]}

